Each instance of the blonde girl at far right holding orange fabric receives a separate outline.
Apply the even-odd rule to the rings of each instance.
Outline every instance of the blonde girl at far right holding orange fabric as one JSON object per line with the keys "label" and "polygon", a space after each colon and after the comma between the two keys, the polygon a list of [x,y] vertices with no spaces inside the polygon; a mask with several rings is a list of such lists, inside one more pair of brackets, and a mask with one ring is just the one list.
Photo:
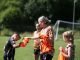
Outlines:
{"label": "blonde girl at far right holding orange fabric", "polygon": [[66,31],[63,33],[63,40],[67,43],[65,49],[60,47],[60,54],[63,56],[58,57],[58,60],[74,60],[74,37],[72,31]]}

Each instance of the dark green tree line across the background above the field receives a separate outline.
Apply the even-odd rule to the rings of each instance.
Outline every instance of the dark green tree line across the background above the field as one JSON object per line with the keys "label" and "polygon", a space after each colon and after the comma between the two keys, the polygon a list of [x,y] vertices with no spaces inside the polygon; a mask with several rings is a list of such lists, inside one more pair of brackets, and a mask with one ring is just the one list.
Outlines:
{"label": "dark green tree line across the background above the field", "polygon": [[[33,31],[38,17],[73,20],[74,0],[0,0],[0,30]],[[75,22],[80,21],[80,0],[75,3]]]}

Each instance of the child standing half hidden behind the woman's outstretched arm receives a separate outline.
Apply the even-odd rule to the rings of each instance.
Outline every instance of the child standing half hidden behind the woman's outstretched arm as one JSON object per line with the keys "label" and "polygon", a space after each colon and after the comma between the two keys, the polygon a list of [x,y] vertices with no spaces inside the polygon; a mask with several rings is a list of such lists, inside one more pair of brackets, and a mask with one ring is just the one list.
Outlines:
{"label": "child standing half hidden behind the woman's outstretched arm", "polygon": [[[33,37],[39,36],[40,31],[41,31],[40,25],[36,24],[36,31],[34,31]],[[39,54],[40,54],[40,40],[35,39],[34,40],[34,58],[35,60],[39,59]]]}

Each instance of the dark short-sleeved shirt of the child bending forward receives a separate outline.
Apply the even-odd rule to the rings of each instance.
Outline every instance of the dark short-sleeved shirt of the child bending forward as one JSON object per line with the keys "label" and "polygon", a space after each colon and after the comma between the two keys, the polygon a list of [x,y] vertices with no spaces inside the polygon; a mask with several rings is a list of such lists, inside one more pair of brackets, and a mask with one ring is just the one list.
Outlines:
{"label": "dark short-sleeved shirt of the child bending forward", "polygon": [[15,48],[13,47],[13,44],[15,44],[15,41],[10,37],[6,45],[4,46],[5,53],[15,53]]}

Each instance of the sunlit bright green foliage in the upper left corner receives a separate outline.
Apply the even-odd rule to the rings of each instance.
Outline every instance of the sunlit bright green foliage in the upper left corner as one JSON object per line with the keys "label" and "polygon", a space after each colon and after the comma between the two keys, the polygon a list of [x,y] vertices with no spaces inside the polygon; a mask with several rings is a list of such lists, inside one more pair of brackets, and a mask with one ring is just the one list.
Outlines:
{"label": "sunlit bright green foliage in the upper left corner", "polygon": [[17,0],[2,0],[0,2],[0,21],[3,21],[9,14],[14,15],[11,14],[11,12],[16,13],[14,10],[20,10],[20,4],[21,2]]}

